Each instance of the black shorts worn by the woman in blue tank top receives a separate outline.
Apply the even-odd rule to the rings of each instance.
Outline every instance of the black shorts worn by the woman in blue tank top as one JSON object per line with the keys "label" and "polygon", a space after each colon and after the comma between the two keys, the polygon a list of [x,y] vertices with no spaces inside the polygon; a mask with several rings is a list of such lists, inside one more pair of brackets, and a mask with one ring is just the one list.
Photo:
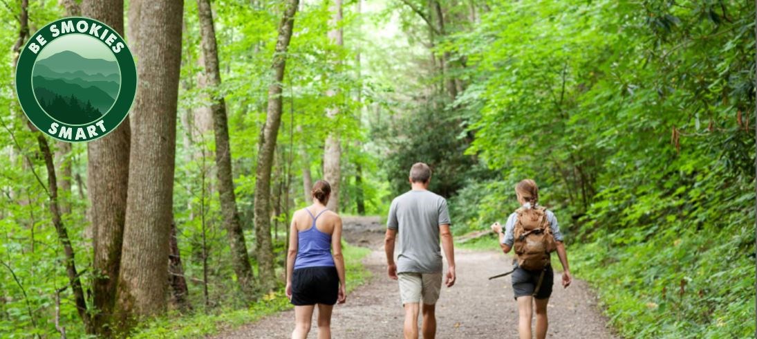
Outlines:
{"label": "black shorts worn by the woman in blue tank top", "polygon": [[291,303],[294,306],[334,305],[338,294],[339,275],[334,266],[298,268],[291,274]]}

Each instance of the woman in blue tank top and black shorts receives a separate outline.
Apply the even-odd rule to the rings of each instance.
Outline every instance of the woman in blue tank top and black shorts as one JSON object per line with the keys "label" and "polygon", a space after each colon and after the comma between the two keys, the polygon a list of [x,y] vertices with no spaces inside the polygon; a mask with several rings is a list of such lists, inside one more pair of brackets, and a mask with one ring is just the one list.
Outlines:
{"label": "woman in blue tank top and black shorts", "polygon": [[335,303],[344,303],[344,257],[341,255],[341,218],[326,209],[331,185],[313,185],[313,205],[294,212],[286,261],[286,295],[294,305],[291,337],[305,338],[313,309],[318,305],[318,337],[331,337]]}

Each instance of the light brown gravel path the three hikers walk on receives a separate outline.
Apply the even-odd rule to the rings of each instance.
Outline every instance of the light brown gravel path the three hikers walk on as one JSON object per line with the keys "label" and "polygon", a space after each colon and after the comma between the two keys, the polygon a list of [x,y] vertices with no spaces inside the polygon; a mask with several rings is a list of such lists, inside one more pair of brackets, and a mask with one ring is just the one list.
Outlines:
{"label": "light brown gravel path the three hikers walk on", "polygon": [[[344,225],[347,242],[374,250],[365,261],[373,278],[348,294],[347,303],[335,306],[332,337],[402,337],[403,309],[397,282],[385,274],[383,226],[378,223],[378,218],[345,218]],[[437,336],[517,337],[518,309],[512,300],[510,279],[487,280],[491,275],[508,271],[511,259],[495,250],[456,250],[455,258],[458,278],[455,286],[443,287],[437,303]],[[556,284],[559,281],[559,274],[556,274]],[[547,337],[613,337],[605,328],[606,320],[597,311],[596,299],[584,281],[574,281],[568,289],[554,287],[548,312],[550,329]],[[218,338],[289,337],[293,326],[294,311],[290,310]],[[309,337],[316,337],[317,331],[316,323],[313,323]]]}

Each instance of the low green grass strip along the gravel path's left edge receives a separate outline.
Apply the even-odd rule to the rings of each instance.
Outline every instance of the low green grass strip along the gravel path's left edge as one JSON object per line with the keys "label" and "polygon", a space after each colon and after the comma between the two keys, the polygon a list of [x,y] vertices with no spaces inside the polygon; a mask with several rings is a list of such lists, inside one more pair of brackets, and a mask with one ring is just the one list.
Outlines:
{"label": "low green grass strip along the gravel path's left edge", "polygon": [[[371,273],[363,266],[363,259],[371,252],[358,246],[344,245],[344,265],[347,291],[366,283]],[[201,311],[191,315],[169,314],[145,322],[129,336],[135,339],[148,338],[190,338],[205,337],[220,331],[238,328],[257,322],[266,315],[291,309],[283,287],[260,298],[248,309],[217,309],[204,314]]]}

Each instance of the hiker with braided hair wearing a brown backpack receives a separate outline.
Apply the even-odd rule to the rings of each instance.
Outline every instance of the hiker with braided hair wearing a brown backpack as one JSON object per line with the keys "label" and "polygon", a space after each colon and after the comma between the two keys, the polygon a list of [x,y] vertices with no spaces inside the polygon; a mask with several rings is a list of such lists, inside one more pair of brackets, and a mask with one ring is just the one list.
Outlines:
{"label": "hiker with braided hair wearing a brown backpack", "polygon": [[557,252],[563,268],[562,287],[565,288],[572,281],[568,255],[562,244],[557,218],[538,204],[539,188],[534,180],[521,180],[516,185],[516,196],[521,207],[509,215],[505,229],[498,222],[492,224],[491,229],[499,234],[504,253],[513,248],[516,252],[516,266],[511,273],[512,290],[518,302],[520,337],[531,338],[531,315],[535,305],[536,337],[543,339],[547,336],[547,303],[554,277],[550,253]]}

